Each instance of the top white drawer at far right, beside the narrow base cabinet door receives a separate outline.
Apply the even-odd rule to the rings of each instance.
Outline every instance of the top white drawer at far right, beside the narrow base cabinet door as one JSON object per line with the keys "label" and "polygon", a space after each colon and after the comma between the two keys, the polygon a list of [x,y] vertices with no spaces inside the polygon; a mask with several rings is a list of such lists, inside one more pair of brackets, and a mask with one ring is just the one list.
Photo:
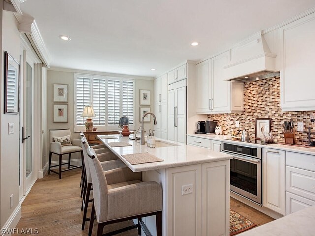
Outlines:
{"label": "top white drawer at far right, beside the narrow base cabinet door", "polygon": [[286,165],[315,171],[315,156],[287,151]]}

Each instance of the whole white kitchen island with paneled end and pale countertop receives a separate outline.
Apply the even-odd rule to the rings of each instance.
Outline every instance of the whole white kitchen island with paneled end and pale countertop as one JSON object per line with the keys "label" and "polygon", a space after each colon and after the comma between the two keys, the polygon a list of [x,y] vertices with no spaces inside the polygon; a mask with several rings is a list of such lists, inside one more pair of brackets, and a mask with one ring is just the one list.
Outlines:
{"label": "whole white kitchen island with paneled end and pale countertop", "polygon": [[[143,181],[163,188],[163,236],[229,236],[229,173],[231,155],[157,139],[156,148],[128,137],[98,138]],[[112,136],[112,137],[113,137]],[[111,147],[110,142],[132,146]],[[122,155],[150,153],[163,161],[131,165]],[[143,219],[156,235],[155,217]]]}

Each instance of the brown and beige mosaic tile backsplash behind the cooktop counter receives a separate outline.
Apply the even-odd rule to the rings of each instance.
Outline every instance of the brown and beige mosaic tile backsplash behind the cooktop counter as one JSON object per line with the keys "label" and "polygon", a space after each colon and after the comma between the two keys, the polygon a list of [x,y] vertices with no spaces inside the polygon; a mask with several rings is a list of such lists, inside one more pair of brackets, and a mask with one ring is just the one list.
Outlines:
{"label": "brown and beige mosaic tile backsplash behind the cooktop counter", "polygon": [[[284,142],[284,121],[293,120],[296,142],[308,143],[308,134],[297,132],[297,122],[304,122],[304,131],[311,126],[315,132],[315,125],[310,122],[312,111],[283,112],[280,108],[280,78],[268,78],[244,84],[244,111],[240,114],[208,114],[208,119],[218,121],[223,134],[232,131],[248,130],[255,137],[256,118],[271,118],[271,131],[278,143]],[[314,112],[314,111],[313,111]],[[240,128],[235,127],[235,121],[240,122]],[[315,135],[311,135],[315,140]]]}

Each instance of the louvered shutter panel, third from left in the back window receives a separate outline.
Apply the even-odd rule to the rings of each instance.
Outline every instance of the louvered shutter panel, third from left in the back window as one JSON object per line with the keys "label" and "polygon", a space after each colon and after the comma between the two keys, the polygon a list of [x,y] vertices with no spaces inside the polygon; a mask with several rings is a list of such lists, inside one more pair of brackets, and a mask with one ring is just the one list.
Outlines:
{"label": "louvered shutter panel, third from left in the back window", "polygon": [[120,81],[108,80],[108,124],[114,125],[120,118]]}

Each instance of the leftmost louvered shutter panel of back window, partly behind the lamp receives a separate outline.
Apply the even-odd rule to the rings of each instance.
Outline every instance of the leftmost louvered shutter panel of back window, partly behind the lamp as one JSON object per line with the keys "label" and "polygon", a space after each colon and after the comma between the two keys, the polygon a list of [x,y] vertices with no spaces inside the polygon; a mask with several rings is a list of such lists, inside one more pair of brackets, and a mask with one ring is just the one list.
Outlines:
{"label": "leftmost louvered shutter panel of back window, partly behind the lamp", "polygon": [[81,117],[85,106],[90,105],[90,78],[76,78],[76,124],[84,125],[86,118]]}

